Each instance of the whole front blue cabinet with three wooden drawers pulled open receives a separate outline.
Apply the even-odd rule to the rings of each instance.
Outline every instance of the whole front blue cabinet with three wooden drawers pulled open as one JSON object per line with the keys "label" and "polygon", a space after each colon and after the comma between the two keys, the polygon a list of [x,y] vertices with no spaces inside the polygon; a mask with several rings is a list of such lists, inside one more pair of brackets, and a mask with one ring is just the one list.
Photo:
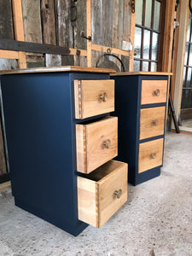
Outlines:
{"label": "whole front blue cabinet with three wooden drawers pulled open", "polygon": [[15,205],[73,236],[127,200],[112,69],[45,67],[0,76]]}

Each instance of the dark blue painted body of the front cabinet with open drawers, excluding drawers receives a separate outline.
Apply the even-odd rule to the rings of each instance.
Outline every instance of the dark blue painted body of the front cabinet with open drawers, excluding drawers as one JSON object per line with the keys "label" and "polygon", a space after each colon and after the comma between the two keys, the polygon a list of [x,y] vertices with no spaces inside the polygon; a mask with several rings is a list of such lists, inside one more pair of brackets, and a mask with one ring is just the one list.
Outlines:
{"label": "dark blue painted body of the front cabinet with open drawers, excluding drawers", "polygon": [[15,204],[73,236],[78,220],[73,79],[97,73],[28,73],[1,77]]}

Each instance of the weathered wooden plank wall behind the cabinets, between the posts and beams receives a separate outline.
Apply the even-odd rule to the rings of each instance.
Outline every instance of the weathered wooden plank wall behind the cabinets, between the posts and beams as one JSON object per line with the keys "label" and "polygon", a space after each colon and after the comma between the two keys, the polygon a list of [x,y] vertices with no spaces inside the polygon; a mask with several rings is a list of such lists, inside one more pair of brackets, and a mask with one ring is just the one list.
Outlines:
{"label": "weathered wooden plank wall behind the cabinets, between the posts and beams", "polygon": [[[87,49],[87,40],[80,36],[82,31],[86,35],[87,30],[86,0],[21,1],[26,42]],[[11,0],[2,0],[0,4],[6,5],[11,14]],[[9,15],[9,24],[13,23],[11,17],[12,15]],[[122,41],[129,41],[130,20],[131,0],[92,0],[91,43],[108,48],[122,49]],[[3,27],[6,26],[3,25]],[[7,30],[7,34],[8,31],[11,31],[11,28]],[[3,38],[1,32],[0,38]],[[95,67],[96,60],[102,55],[102,51],[96,50],[92,50],[92,62],[90,62],[92,67]],[[118,56],[124,62],[127,71],[129,69],[129,56]],[[110,57],[110,60],[120,67],[119,61],[113,59],[113,57]],[[41,67],[44,66],[44,62],[45,66],[87,66],[87,57],[83,55],[45,55],[44,58],[44,55],[30,54],[27,55],[27,61],[28,67],[32,67],[32,65]]]}

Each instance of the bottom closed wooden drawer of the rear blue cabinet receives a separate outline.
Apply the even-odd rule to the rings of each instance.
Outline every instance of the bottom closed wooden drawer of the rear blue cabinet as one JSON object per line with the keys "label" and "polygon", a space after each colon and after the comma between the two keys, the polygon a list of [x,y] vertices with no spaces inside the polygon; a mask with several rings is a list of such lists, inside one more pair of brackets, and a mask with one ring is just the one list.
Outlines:
{"label": "bottom closed wooden drawer of the rear blue cabinet", "polygon": [[145,172],[162,165],[163,138],[139,144],[138,172]]}

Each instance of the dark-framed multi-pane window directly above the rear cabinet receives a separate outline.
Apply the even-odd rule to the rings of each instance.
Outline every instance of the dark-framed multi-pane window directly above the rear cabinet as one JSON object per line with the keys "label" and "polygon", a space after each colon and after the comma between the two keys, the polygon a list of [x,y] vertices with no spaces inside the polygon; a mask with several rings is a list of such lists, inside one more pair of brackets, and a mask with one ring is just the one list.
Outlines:
{"label": "dark-framed multi-pane window directly above the rear cabinet", "polygon": [[162,0],[137,0],[135,27],[135,71],[157,71],[160,64]]}

